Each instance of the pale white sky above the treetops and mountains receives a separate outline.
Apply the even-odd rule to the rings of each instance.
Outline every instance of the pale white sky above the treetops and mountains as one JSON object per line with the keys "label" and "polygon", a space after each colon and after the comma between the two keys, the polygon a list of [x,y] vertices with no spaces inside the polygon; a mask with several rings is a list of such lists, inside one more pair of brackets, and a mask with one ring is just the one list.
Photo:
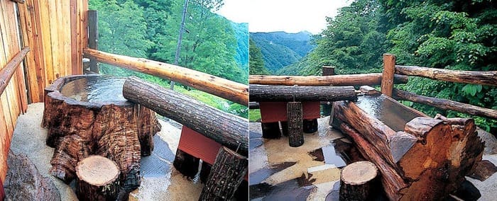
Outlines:
{"label": "pale white sky above the treetops and mountains", "polygon": [[351,0],[224,0],[217,13],[236,23],[249,23],[250,32],[307,30],[318,34],[326,28],[326,16],[336,16],[338,8],[350,3]]}

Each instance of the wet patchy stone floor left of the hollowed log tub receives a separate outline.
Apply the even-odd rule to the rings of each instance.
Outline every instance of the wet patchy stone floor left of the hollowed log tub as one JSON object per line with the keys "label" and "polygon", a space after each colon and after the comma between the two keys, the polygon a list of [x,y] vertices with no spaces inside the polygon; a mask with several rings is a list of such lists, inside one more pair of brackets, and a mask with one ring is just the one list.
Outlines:
{"label": "wet patchy stone floor left of the hollowed log tub", "polygon": [[300,147],[288,137],[263,139],[261,123],[250,125],[249,192],[251,200],[338,200],[340,168],[347,157],[341,147],[349,143],[318,120],[318,131],[304,134]]}

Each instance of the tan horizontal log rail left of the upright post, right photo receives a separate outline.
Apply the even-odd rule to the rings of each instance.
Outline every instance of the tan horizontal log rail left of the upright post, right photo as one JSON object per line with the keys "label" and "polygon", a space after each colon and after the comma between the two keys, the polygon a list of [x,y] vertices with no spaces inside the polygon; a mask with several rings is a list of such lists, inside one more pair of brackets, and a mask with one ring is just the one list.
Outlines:
{"label": "tan horizontal log rail left of the upright post, right photo", "polygon": [[[376,74],[349,74],[334,76],[249,76],[250,84],[266,85],[299,85],[299,86],[362,86],[380,85],[381,73]],[[395,84],[408,83],[408,76],[395,74]]]}

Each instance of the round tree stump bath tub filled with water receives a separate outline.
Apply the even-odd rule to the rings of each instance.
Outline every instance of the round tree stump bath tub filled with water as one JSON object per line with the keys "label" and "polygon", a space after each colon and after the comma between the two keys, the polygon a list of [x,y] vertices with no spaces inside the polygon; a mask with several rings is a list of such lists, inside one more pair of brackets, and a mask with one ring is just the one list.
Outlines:
{"label": "round tree stump bath tub filled with water", "polygon": [[48,128],[46,144],[55,148],[53,176],[69,183],[79,161],[100,155],[117,164],[121,184],[138,187],[141,156],[151,154],[160,124],[152,110],[126,101],[124,81],[114,76],[65,76],[45,88],[42,124]]}

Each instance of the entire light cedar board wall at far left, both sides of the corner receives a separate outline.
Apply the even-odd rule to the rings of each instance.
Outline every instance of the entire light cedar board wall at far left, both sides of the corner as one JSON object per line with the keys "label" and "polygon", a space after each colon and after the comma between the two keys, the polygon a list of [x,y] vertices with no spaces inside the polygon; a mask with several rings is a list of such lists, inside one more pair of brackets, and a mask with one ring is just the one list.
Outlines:
{"label": "entire light cedar board wall at far left, both sides of the corner", "polygon": [[[9,85],[0,94],[0,179],[7,170],[13,129],[28,101],[43,102],[43,89],[60,76],[82,74],[87,46],[87,0],[0,0],[0,69],[30,47]],[[25,71],[25,72],[23,72]],[[26,75],[26,76],[25,76]]]}

